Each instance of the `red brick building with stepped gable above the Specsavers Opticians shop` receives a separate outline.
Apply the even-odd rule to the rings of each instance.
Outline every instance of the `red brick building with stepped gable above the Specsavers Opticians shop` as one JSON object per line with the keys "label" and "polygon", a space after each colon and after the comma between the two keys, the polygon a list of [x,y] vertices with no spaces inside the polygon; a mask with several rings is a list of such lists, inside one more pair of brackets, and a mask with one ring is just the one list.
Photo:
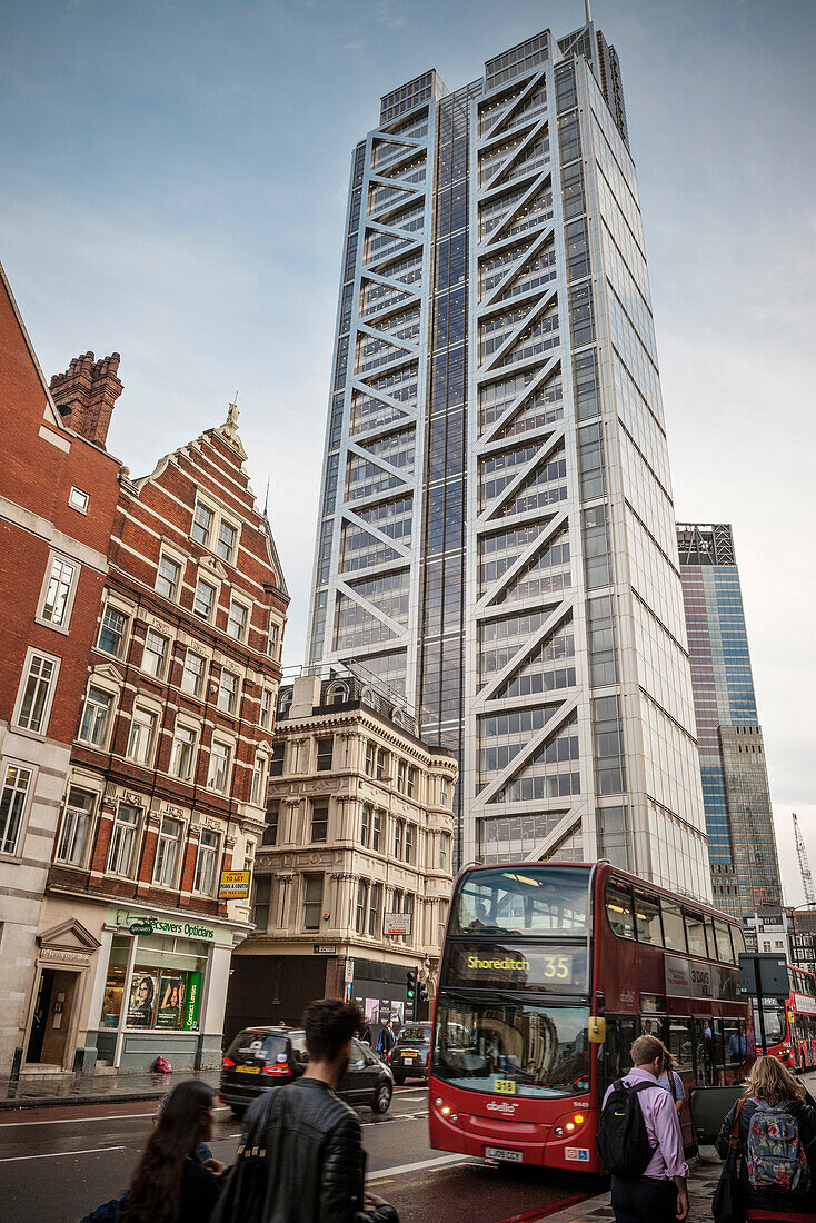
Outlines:
{"label": "red brick building with stepped gable above the Specsavers Opticians shop", "polygon": [[[53,379],[59,404],[87,361]],[[98,943],[77,1011],[86,1066],[218,1064],[232,948],[252,928],[219,881],[252,871],[264,829],[289,598],[237,415],[120,476],[42,918],[72,915]],[[77,416],[99,437],[106,396]]]}

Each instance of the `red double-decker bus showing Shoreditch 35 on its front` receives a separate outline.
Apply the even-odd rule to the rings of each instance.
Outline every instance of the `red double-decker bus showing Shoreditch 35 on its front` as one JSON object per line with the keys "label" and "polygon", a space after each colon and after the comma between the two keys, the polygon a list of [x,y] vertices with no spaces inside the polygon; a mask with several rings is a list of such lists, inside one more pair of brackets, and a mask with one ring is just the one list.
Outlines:
{"label": "red double-decker bus showing Shoreditch 35 on its front", "polygon": [[[603,1092],[636,1036],[688,1088],[745,1074],[738,922],[607,862],[475,866],[459,876],[434,1009],[431,1145],[599,1172]],[[688,1107],[681,1120],[691,1141]]]}

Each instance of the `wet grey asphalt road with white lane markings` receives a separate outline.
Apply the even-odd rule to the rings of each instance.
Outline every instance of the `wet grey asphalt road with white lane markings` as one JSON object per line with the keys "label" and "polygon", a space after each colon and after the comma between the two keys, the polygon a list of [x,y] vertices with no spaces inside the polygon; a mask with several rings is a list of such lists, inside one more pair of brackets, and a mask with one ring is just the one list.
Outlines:
{"label": "wet grey asphalt road with white lane markings", "polygon": [[[0,1217],[4,1223],[77,1223],[127,1188],[150,1130],[154,1106],[0,1113]],[[213,1153],[231,1163],[240,1124],[218,1113]],[[393,1202],[401,1223],[509,1223],[597,1192],[597,1181],[445,1156],[428,1146],[427,1092],[398,1087],[390,1110],[360,1109],[368,1185]]]}

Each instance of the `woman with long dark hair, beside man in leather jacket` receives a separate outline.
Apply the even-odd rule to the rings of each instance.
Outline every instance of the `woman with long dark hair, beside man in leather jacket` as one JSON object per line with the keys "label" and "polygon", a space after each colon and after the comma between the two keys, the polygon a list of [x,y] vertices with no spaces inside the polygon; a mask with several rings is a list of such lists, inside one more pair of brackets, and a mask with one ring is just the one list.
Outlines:
{"label": "woman with long dark hair, beside man in leather jacket", "polygon": [[221,1166],[204,1166],[197,1151],[213,1135],[214,1096],[196,1080],[170,1092],[122,1202],[122,1223],[207,1223]]}

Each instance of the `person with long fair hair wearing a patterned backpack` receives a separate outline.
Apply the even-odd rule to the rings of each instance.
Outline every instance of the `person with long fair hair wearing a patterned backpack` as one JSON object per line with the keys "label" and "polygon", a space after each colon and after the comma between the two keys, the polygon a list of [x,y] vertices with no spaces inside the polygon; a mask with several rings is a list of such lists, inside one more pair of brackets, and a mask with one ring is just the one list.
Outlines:
{"label": "person with long fair hair wearing a patterned backpack", "polygon": [[725,1158],[735,1131],[743,1218],[762,1223],[816,1219],[816,1109],[804,1086],[781,1062],[759,1057],[745,1095],[717,1135]]}

